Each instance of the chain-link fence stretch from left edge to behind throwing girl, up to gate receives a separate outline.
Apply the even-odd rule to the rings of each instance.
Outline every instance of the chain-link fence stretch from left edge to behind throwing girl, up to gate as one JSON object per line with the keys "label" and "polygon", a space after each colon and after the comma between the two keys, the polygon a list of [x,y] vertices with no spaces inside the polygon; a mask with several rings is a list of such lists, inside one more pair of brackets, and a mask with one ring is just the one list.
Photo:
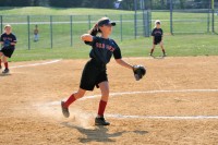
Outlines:
{"label": "chain-link fence stretch from left edge to behind throwing girl, up to gate", "polygon": [[[87,33],[102,16],[108,16],[117,22],[111,36],[117,40],[134,39],[136,36],[145,35],[143,13],[136,15],[134,13],[117,15],[0,15],[0,26],[1,33],[3,33],[5,24],[12,25],[13,33],[17,37],[16,47],[19,49],[64,48],[80,45],[82,43],[81,35]],[[134,21],[136,17],[138,19],[137,27],[136,21]],[[34,40],[36,25],[38,41]],[[140,33],[136,34],[136,32]]]}

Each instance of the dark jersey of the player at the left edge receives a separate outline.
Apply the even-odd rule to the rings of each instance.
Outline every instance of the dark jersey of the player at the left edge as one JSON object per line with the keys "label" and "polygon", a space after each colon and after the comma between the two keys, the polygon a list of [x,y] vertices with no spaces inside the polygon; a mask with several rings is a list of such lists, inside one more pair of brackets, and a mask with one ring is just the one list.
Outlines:
{"label": "dark jersey of the player at the left edge", "polygon": [[14,45],[10,45],[11,43],[16,43],[16,36],[14,34],[7,34],[7,33],[3,33],[1,35],[1,39],[0,41],[3,41],[3,47],[7,47],[7,48],[12,48],[14,49],[15,46]]}

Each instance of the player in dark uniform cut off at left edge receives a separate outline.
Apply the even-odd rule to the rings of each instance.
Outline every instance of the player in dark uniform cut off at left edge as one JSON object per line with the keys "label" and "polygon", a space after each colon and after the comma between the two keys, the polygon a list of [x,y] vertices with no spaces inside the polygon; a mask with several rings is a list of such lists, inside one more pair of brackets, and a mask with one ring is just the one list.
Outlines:
{"label": "player in dark uniform cut off at left edge", "polygon": [[8,58],[11,58],[16,45],[16,37],[12,34],[11,25],[8,24],[4,26],[4,33],[1,35],[0,44],[2,45],[0,50],[0,69],[2,68],[1,61],[3,61],[5,69],[2,73],[5,74],[9,73]]}

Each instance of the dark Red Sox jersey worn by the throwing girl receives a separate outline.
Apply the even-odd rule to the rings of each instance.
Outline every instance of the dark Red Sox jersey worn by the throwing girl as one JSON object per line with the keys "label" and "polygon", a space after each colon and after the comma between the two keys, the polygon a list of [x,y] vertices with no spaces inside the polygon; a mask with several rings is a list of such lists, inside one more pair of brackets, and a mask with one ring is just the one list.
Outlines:
{"label": "dark Red Sox jersey worn by the throwing girl", "polygon": [[120,48],[113,39],[94,36],[93,41],[85,41],[85,44],[93,47],[89,57],[102,64],[110,62],[112,55],[114,59],[122,58]]}

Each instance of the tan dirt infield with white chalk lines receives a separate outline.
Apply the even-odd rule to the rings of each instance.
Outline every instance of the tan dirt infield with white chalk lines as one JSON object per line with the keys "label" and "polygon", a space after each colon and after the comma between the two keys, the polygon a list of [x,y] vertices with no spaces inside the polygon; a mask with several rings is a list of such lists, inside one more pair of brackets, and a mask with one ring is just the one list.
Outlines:
{"label": "tan dirt infield with white chalk lines", "polygon": [[11,62],[11,74],[0,75],[0,144],[218,144],[218,57],[124,60],[147,74],[136,82],[114,60],[108,64],[111,125],[100,128],[99,89],[75,101],[70,119],[60,109],[87,60]]}

